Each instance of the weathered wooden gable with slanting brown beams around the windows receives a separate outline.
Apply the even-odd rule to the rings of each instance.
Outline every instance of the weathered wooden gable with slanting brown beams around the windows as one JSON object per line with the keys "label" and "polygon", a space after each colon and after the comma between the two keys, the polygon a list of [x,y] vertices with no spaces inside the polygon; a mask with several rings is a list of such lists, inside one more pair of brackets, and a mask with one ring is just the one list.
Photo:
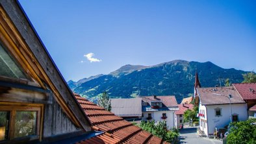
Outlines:
{"label": "weathered wooden gable with slanting brown beams around the windows", "polygon": [[0,111],[13,106],[12,115],[21,106],[39,108],[41,140],[65,132],[91,130],[81,106],[18,1],[0,1],[0,42],[29,77],[0,77]]}

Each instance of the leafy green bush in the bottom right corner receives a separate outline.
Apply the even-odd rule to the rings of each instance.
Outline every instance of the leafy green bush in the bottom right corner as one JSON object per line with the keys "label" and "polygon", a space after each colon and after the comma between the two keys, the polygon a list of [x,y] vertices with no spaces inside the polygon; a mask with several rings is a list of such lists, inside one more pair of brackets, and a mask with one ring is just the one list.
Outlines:
{"label": "leafy green bush in the bottom right corner", "polygon": [[253,123],[256,123],[256,119],[231,123],[227,144],[256,143],[256,125]]}

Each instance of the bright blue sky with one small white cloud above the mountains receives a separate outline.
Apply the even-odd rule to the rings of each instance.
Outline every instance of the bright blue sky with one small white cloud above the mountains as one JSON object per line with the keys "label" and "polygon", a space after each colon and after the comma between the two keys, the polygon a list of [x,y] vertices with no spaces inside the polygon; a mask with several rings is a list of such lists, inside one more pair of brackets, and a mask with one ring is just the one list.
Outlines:
{"label": "bright blue sky with one small white cloud above the mountains", "polygon": [[19,3],[66,80],[171,60],[256,71],[256,1]]}

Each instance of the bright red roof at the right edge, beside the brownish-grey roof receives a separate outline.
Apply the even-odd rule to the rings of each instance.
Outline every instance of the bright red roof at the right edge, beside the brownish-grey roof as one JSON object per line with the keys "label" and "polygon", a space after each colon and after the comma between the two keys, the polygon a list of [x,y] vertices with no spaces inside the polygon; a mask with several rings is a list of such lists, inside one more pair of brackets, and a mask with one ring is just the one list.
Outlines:
{"label": "bright red roof at the right edge, beside the brownish-grey roof", "polygon": [[233,86],[235,86],[238,93],[240,93],[242,99],[244,99],[244,100],[255,100],[256,99],[256,83],[233,84]]}

